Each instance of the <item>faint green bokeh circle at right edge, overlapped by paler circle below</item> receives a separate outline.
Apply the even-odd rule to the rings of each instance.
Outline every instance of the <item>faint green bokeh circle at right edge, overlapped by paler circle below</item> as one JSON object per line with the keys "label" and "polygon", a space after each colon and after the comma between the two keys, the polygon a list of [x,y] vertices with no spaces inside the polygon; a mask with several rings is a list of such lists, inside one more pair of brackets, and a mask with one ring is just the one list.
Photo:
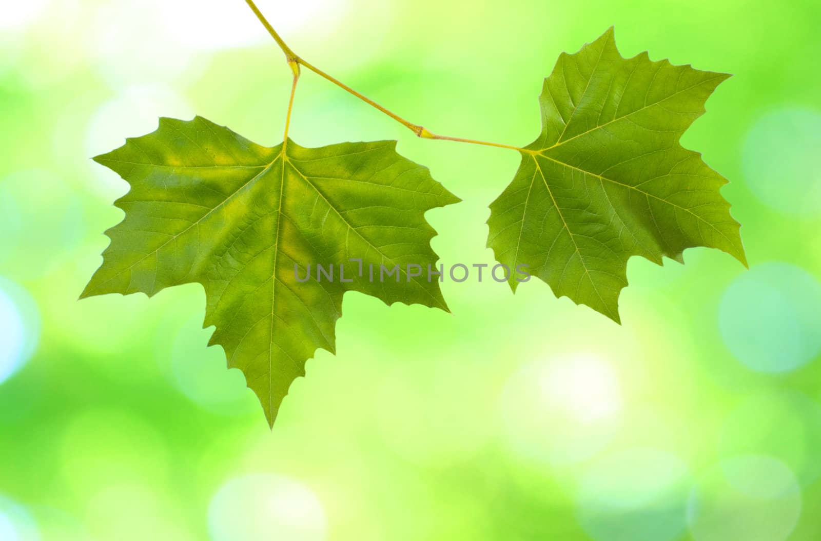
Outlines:
{"label": "faint green bokeh circle at right edge, overlapped by paler circle below", "polygon": [[720,451],[777,458],[807,486],[821,477],[821,404],[798,391],[750,397],[727,417]]}

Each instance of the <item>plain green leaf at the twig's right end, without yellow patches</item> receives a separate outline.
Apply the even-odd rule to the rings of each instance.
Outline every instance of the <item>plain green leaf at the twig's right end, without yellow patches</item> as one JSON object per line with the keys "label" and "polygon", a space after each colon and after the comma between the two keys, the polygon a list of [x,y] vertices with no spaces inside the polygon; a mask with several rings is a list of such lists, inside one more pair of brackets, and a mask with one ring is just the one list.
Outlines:
{"label": "plain green leaf at the twig's right end, without yellow patches", "polygon": [[617,322],[633,255],[683,263],[686,248],[709,246],[746,264],[739,224],[719,193],[726,179],[679,144],[728,77],[647,53],[625,59],[612,28],[562,53],[539,99],[542,133],[490,205],[496,259],[528,265],[556,296]]}

